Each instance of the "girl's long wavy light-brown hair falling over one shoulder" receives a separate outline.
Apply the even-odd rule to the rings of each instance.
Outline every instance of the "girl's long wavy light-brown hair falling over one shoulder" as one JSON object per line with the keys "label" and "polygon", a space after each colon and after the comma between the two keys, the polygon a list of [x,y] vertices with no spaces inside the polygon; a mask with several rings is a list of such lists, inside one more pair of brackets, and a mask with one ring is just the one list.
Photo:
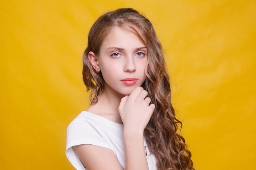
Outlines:
{"label": "girl's long wavy light-brown hair falling over one shoulder", "polygon": [[[97,102],[104,86],[101,73],[96,73],[88,60],[88,53],[99,53],[100,46],[111,29],[122,26],[137,35],[148,49],[146,80],[142,87],[148,91],[156,108],[144,130],[148,148],[157,159],[158,170],[194,170],[191,152],[184,138],[177,133],[182,122],[176,119],[171,104],[170,80],[166,63],[155,30],[150,21],[135,9],[122,8],[99,17],[88,35],[88,46],[83,53],[83,82],[90,93],[90,101]],[[179,128],[180,127],[180,128]]]}

